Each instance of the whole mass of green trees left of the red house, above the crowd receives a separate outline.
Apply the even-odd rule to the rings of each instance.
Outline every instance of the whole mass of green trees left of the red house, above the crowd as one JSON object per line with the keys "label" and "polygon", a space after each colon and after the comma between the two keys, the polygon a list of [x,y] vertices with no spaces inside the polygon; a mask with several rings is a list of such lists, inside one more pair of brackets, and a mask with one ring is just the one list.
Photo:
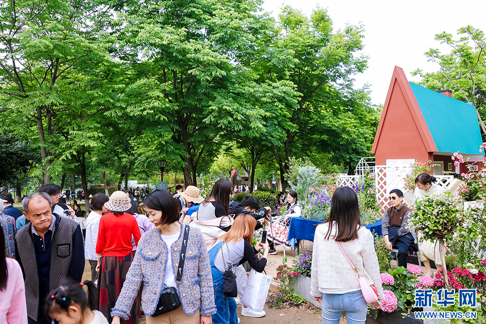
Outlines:
{"label": "whole mass of green trees left of the red house, above the crowd", "polygon": [[126,189],[167,159],[197,185],[231,146],[251,184],[262,164],[285,184],[291,156],[352,171],[378,123],[353,86],[363,27],[334,30],[321,8],[276,20],[260,4],[2,1],[1,127],[39,156],[29,176]]}

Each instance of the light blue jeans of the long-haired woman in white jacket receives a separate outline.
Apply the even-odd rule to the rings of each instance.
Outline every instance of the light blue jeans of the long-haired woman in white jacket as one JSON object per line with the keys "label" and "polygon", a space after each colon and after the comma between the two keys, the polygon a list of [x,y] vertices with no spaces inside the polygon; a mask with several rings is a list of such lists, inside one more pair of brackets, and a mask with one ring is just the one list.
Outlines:
{"label": "light blue jeans of the long-haired woman in white jacket", "polygon": [[322,324],[339,324],[341,313],[346,312],[347,324],[364,324],[368,304],[361,290],[344,294],[323,293]]}

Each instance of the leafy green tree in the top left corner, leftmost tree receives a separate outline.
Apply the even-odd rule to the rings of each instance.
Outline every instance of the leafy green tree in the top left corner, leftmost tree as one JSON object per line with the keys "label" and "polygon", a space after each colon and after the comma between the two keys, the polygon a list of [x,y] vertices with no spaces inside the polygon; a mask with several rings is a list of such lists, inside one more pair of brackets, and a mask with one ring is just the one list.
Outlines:
{"label": "leafy green tree in the top left corner, leftmost tree", "polygon": [[79,131],[71,123],[84,108],[80,102],[96,88],[86,71],[109,60],[109,36],[99,24],[105,16],[99,3],[89,0],[2,2],[2,119],[40,148],[44,183],[51,181],[51,164],[63,154],[56,148],[64,135]]}

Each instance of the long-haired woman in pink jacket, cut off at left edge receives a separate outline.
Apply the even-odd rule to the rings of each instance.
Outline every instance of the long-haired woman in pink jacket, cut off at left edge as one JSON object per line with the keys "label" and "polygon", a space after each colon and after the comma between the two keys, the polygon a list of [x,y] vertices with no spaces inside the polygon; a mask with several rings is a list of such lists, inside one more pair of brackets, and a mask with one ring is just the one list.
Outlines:
{"label": "long-haired woman in pink jacket, cut off at left edge", "polygon": [[[0,226],[0,238],[3,238]],[[0,324],[27,324],[24,278],[20,265],[6,257],[5,240],[0,239]]]}

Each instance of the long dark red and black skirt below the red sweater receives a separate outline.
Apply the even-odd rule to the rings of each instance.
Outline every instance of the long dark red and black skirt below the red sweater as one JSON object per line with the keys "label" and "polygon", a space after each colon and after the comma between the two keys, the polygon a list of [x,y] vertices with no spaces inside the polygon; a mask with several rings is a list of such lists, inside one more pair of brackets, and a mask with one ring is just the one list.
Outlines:
{"label": "long dark red and black skirt below the red sweater", "polygon": [[[100,273],[98,276],[98,291],[100,293],[100,311],[111,323],[111,309],[115,307],[118,296],[120,296],[126,273],[133,261],[133,254],[128,256],[103,256],[101,260]],[[121,320],[121,323],[138,324],[140,313],[140,299],[135,298],[130,318],[128,321]]]}

